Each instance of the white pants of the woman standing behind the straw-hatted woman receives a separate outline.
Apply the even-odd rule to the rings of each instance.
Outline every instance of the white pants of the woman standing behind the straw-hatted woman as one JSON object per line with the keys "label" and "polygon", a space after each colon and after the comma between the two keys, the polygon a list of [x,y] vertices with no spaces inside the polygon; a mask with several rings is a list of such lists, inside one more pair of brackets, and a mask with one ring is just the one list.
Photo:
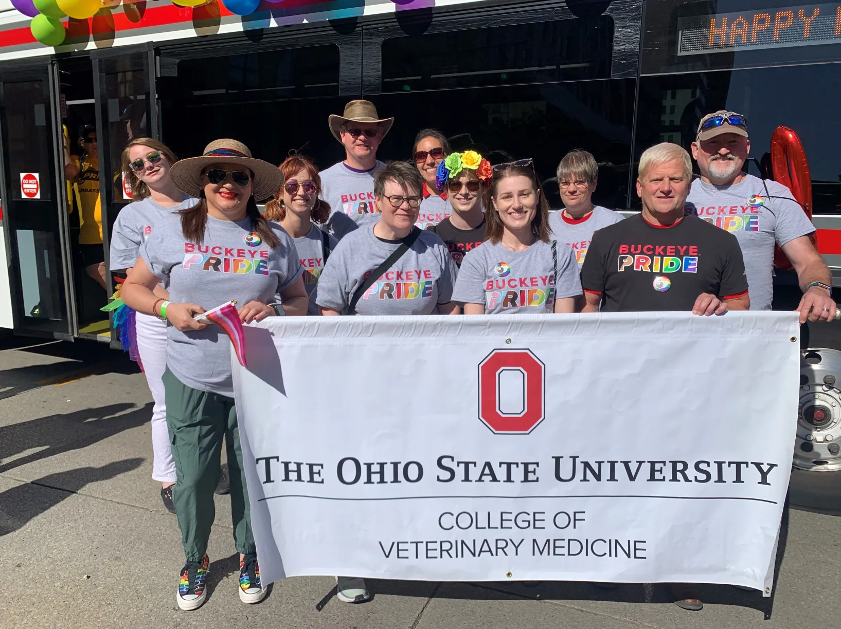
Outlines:
{"label": "white pants of the woman standing behind the straw-hatted woman", "polygon": [[152,406],[152,478],[162,483],[175,482],[175,462],[167,431],[167,403],[161,376],[167,368],[167,323],[157,317],[138,312],[137,351],[143,361],[146,383],[155,406]]}

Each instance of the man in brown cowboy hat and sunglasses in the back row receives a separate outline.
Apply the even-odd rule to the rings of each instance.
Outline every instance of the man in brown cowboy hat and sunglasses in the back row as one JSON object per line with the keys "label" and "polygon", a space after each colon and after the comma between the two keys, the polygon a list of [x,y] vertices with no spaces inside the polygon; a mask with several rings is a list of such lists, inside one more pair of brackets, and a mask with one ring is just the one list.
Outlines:
{"label": "man in brown cowboy hat and sunglasses in the back row", "polygon": [[345,160],[321,171],[321,198],[332,209],[327,227],[341,238],[358,223],[376,221],[370,217],[379,212],[373,176],[384,165],[377,160],[377,149],[394,118],[379,118],[373,102],[351,101],[343,115],[331,114],[328,123],[333,137],[345,146]]}

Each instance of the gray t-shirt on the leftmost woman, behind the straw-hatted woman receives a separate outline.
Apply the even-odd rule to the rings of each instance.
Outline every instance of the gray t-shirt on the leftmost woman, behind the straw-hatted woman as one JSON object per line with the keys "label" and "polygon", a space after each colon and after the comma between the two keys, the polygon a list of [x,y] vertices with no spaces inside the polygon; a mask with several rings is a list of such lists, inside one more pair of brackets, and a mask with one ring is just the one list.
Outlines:
{"label": "gray t-shirt on the leftmost woman, behind the straw-hatted woman", "polygon": [[174,212],[196,203],[198,199],[187,197],[176,206],[163,207],[146,197],[125,206],[119,211],[111,233],[110,269],[119,271],[134,266],[140,255],[140,245],[152,233],[155,224],[165,222]]}

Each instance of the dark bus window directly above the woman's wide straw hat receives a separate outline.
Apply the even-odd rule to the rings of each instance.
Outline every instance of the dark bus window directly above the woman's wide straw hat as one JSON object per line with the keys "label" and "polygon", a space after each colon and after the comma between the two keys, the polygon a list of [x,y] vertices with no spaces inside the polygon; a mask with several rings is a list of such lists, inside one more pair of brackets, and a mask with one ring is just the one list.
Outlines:
{"label": "dark bus window directly above the woman's wide straw hat", "polygon": [[179,157],[200,155],[209,141],[228,137],[275,164],[300,150],[320,168],[333,165],[343,152],[327,118],[350,100],[338,96],[339,61],[337,45],[161,57],[162,138]]}

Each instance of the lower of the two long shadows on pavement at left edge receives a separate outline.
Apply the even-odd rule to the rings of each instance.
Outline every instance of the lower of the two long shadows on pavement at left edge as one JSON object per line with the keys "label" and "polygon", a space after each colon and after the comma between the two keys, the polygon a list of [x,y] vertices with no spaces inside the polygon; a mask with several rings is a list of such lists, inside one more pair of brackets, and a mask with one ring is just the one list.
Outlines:
{"label": "lower of the two long shadows on pavement at left edge", "polygon": [[[48,474],[26,485],[18,485],[0,493],[0,537],[17,531],[27,522],[77,494],[85,485],[99,480],[113,479],[140,467],[143,459],[124,459],[100,468],[78,468]],[[37,487],[36,487],[37,486]],[[40,488],[48,488],[44,491]]]}

